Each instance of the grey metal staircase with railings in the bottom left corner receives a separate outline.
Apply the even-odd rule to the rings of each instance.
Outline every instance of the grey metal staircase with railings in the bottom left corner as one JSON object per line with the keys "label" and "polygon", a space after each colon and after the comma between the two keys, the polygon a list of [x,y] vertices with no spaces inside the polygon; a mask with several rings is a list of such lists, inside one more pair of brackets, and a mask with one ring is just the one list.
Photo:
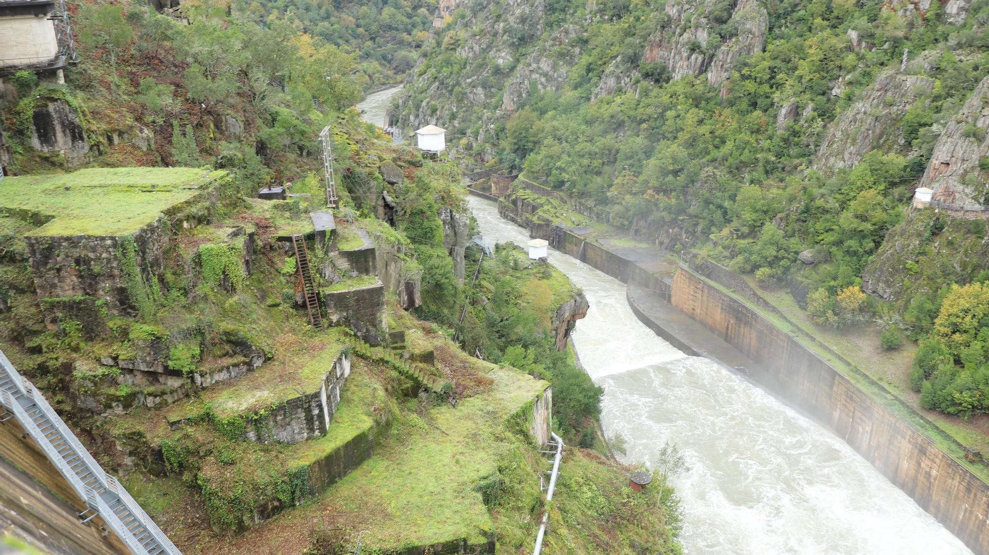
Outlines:
{"label": "grey metal staircase with railings in the bottom left corner", "polygon": [[113,530],[135,554],[181,555],[124,486],[103,471],[48,405],[45,396],[21,377],[3,352],[0,352],[0,405],[4,410],[0,421],[16,419],[85,502],[86,510],[79,514],[83,522],[99,516],[106,529]]}

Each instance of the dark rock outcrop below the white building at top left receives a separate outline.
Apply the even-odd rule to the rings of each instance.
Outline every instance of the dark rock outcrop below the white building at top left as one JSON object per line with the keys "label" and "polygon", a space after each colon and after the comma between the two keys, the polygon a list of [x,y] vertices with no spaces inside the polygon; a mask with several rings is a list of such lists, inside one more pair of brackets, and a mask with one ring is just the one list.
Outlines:
{"label": "dark rock outcrop below the white building at top left", "polygon": [[88,161],[86,131],[72,107],[60,99],[40,103],[35,108],[31,146],[41,152],[61,152],[70,168]]}

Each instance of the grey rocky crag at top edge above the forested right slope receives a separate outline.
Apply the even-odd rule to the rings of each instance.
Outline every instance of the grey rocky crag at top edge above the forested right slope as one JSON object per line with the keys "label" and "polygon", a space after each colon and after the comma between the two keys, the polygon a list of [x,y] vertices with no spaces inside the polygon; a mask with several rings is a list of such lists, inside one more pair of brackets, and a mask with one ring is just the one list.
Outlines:
{"label": "grey rocky crag at top edge above the forested right slope", "polygon": [[[700,8],[704,15],[698,15]],[[721,85],[722,96],[727,94],[725,83],[739,57],[763,51],[769,16],[756,0],[739,0],[730,19],[736,24],[738,35],[722,41],[713,53],[707,53],[708,40],[719,25],[706,17],[714,8],[715,3],[710,0],[669,2],[666,13],[670,23],[658,30],[646,45],[643,61],[663,62],[674,79],[707,72],[708,84]]]}

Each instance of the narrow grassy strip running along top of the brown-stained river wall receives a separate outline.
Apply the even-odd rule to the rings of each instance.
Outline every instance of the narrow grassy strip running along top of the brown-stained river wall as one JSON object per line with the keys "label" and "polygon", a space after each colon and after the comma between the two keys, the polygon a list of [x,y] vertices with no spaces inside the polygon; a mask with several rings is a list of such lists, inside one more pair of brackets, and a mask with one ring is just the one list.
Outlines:
{"label": "narrow grassy strip running along top of the brown-stained river wall", "polygon": [[[774,326],[776,326],[783,332],[789,334],[791,337],[796,339],[797,342],[799,342],[802,346],[807,348],[809,351],[817,354],[819,357],[827,361],[833,367],[838,369],[838,371],[840,371],[845,377],[849,378],[849,380],[851,380],[856,386],[858,386],[859,389],[867,393],[878,403],[885,406],[887,409],[889,409],[894,414],[896,414],[901,420],[909,423],[915,430],[919,431],[921,434],[923,434],[928,439],[930,439],[931,442],[937,445],[938,448],[943,450],[945,453],[950,455],[951,458],[953,458],[955,461],[958,462],[958,464],[967,468],[969,471],[972,472],[972,474],[978,476],[981,480],[985,482],[989,482],[989,468],[987,468],[983,464],[977,464],[967,460],[965,458],[965,452],[962,447],[962,444],[970,445],[971,443],[968,443],[966,441],[975,440],[976,434],[965,432],[964,434],[956,435],[956,433],[958,433],[959,430],[961,430],[961,428],[957,424],[951,424],[948,422],[950,419],[947,419],[942,415],[934,414],[931,411],[924,411],[925,414],[922,416],[921,412],[919,412],[919,410],[916,409],[917,406],[916,401],[914,401],[913,404],[908,402],[908,400],[905,398],[906,397],[905,392],[902,391],[902,387],[897,387],[895,381],[892,384],[893,386],[889,387],[888,386],[889,381],[887,380],[887,377],[885,375],[870,375],[868,372],[861,369],[861,367],[857,365],[857,362],[855,363],[856,365],[850,365],[845,360],[842,360],[839,357],[835,357],[834,355],[829,353],[828,350],[821,347],[815,341],[815,337],[821,337],[816,330],[812,334],[808,332],[806,329],[804,329],[804,327],[802,327],[801,325],[794,326],[790,322],[781,318],[778,314],[774,314],[769,310],[766,310],[762,307],[755,305],[745,296],[736,294],[734,291],[728,289],[727,287],[721,285],[720,283],[717,283],[707,278],[704,279],[711,285],[717,287],[718,289],[721,289],[722,291],[733,295],[734,298],[736,298],[737,300],[739,300],[740,302],[742,302],[752,310],[755,310],[756,312],[761,314],[768,321],[772,322]],[[767,298],[766,300],[771,301],[772,299]],[[792,310],[792,307],[790,307],[790,310]],[[787,317],[790,317],[789,312],[784,311],[784,313],[787,314]],[[797,320],[794,320],[794,323],[796,322]],[[814,328],[809,328],[809,329],[814,329]],[[825,341],[827,345],[834,348],[835,345],[842,345],[842,342],[838,342],[836,341],[836,339],[837,338],[830,338],[830,339],[826,339]],[[848,340],[842,340],[842,341],[848,342]],[[850,358],[853,360],[857,358],[856,356],[854,356],[854,347],[849,348],[848,346],[846,346],[845,348],[843,348],[843,350],[836,349],[836,352],[840,353],[843,357],[847,357],[847,358],[848,358],[847,353],[853,354],[853,357]],[[860,355],[858,357],[860,357]],[[864,364],[864,367],[866,368],[871,366],[872,364],[870,363]],[[885,385],[880,385],[880,383]],[[944,423],[948,423],[948,426],[944,426]],[[981,441],[979,441],[979,444],[982,444],[982,442],[984,441],[985,438],[983,437]]]}

